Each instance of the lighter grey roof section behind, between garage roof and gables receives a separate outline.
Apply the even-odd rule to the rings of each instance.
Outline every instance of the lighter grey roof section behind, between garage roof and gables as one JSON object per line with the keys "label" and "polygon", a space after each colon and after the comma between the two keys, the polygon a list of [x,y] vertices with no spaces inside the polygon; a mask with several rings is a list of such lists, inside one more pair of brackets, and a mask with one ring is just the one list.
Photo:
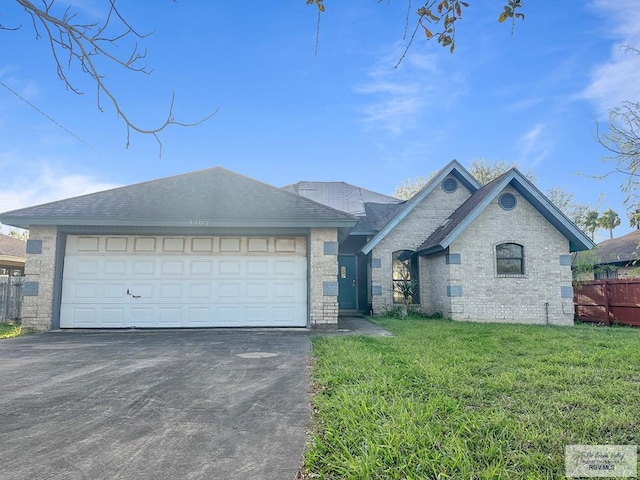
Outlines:
{"label": "lighter grey roof section behind, between garage roof and gables", "polygon": [[403,203],[398,198],[344,182],[298,182],[282,189],[358,217],[366,214],[365,203]]}

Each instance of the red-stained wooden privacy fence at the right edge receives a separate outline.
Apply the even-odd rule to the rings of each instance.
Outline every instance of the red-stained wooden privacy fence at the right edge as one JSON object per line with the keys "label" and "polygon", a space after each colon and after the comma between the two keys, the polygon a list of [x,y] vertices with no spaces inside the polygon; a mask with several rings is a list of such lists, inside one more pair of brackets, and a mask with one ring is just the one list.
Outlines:
{"label": "red-stained wooden privacy fence at the right edge", "polygon": [[640,326],[640,278],[577,283],[573,292],[578,320]]}

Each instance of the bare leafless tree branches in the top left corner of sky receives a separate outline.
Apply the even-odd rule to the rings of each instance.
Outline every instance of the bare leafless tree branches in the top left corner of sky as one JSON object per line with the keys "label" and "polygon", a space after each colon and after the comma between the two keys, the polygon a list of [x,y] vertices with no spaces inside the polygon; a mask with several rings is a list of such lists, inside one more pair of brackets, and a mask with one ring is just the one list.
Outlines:
{"label": "bare leafless tree branches in the top left corner of sky", "polygon": [[[210,115],[196,122],[177,121],[173,114],[175,95],[172,94],[169,112],[166,119],[159,126],[142,128],[134,123],[121,107],[118,98],[105,82],[105,76],[96,65],[94,59],[105,59],[114,65],[133,72],[150,74],[146,65],[140,65],[146,58],[147,51],[140,50],[137,41],[127,56],[114,53],[118,42],[125,38],[144,39],[148,34],[139,33],[121,15],[116,0],[108,1],[108,12],[103,22],[82,23],[76,20],[77,12],[68,7],[64,12],[56,14],[53,11],[56,0],[42,0],[42,8],[38,8],[30,0],[16,0],[31,16],[36,39],[44,38],[49,43],[51,54],[56,64],[56,73],[68,90],[80,95],[79,90],[69,79],[68,71],[74,65],[79,65],[81,71],[88,75],[96,85],[96,103],[100,111],[104,111],[101,96],[106,95],[111,105],[115,108],[118,118],[121,118],[126,127],[126,146],[130,145],[131,131],[145,135],[152,135],[158,143],[159,154],[162,156],[162,142],[159,133],[169,125],[195,126],[210,119],[217,113],[215,110]],[[15,30],[0,26],[5,30]],[[20,28],[20,27],[16,27]]]}

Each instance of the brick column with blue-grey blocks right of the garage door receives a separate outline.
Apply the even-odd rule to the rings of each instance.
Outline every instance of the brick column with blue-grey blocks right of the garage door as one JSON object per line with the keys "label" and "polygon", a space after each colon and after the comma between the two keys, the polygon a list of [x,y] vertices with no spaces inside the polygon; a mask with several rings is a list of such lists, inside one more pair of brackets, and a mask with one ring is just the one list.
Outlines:
{"label": "brick column with blue-grey blocks right of the garage door", "polygon": [[336,228],[312,228],[309,243],[311,326],[337,328],[338,231]]}

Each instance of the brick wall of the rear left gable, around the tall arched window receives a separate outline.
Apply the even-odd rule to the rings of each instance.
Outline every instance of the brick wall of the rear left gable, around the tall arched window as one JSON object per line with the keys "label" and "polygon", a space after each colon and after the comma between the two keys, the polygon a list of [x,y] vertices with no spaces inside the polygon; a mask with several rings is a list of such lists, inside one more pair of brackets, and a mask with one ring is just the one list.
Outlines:
{"label": "brick wall of the rear left gable, around the tall arched window", "polygon": [[[371,269],[371,285],[373,288],[372,304],[375,315],[383,314],[385,310],[393,306],[393,281],[391,274],[391,256],[398,250],[415,250],[424,242],[433,231],[439,227],[464,201],[469,198],[469,191],[458,185],[458,189],[453,193],[445,192],[440,185],[425,197],[409,215],[407,215],[376,247],[373,249],[371,258],[380,259],[380,268]],[[422,306],[426,309],[432,308],[426,304],[426,299],[430,297],[429,291],[425,289],[428,285],[429,276],[423,275],[424,259],[420,259],[420,299]],[[376,287],[381,287],[381,295],[376,295]],[[426,288],[429,288],[428,286]],[[424,300],[423,300],[424,299]]]}

